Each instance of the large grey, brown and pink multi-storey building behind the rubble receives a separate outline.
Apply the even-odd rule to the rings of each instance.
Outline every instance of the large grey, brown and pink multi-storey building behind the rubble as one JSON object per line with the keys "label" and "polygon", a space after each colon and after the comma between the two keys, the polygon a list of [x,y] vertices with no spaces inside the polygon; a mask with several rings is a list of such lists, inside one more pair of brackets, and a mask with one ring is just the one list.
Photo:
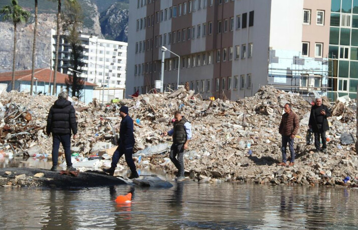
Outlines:
{"label": "large grey, brown and pink multi-storey building behind the rubble", "polygon": [[165,54],[164,89],[189,82],[229,99],[267,84],[325,91],[329,9],[325,0],[130,1],[127,92],[160,80],[161,46],[180,56]]}

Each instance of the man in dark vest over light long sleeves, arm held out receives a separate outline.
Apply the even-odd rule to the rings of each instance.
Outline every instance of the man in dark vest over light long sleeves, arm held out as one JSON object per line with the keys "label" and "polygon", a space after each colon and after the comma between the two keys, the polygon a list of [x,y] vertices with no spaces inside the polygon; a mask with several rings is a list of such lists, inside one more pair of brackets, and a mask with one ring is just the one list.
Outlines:
{"label": "man in dark vest over light long sleeves, arm held out", "polygon": [[164,132],[163,136],[173,136],[173,144],[170,148],[169,158],[178,169],[176,180],[182,181],[185,178],[184,149],[188,149],[188,144],[191,139],[191,124],[179,111],[175,111],[174,118],[173,129],[169,132]]}

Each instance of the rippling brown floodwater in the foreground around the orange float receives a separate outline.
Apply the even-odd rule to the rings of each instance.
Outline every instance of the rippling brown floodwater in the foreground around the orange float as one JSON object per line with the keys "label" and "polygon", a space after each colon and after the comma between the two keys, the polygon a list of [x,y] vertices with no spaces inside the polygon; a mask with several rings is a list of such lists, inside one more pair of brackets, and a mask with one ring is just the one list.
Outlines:
{"label": "rippling brown floodwater in the foreground around the orange float", "polygon": [[[358,229],[358,190],[176,183],[168,189],[0,188],[0,228]],[[119,205],[119,195],[132,202]]]}

